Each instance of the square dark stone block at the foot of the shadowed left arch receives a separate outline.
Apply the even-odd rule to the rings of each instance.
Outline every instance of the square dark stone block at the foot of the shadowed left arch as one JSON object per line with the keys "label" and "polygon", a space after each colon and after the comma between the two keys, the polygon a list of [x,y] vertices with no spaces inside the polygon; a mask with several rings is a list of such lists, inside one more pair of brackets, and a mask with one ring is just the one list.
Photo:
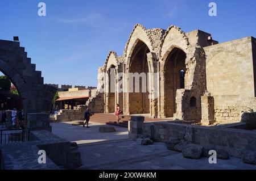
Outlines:
{"label": "square dark stone block at the foot of the shadowed left arch", "polygon": [[30,132],[34,130],[46,130],[52,132],[49,125],[49,113],[27,113],[26,139],[30,141]]}

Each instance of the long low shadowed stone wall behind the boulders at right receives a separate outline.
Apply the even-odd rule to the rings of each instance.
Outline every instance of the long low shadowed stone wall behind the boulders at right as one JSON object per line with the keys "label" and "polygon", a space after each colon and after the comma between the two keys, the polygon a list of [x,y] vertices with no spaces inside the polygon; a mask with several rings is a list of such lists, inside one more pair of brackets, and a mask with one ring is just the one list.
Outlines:
{"label": "long low shadowed stone wall behind the boulders at right", "polygon": [[245,128],[243,125],[239,123],[239,125],[203,127],[171,122],[144,123],[143,136],[160,142],[169,141],[170,137],[177,137],[198,145],[214,145],[216,149],[225,149],[230,155],[241,158],[241,151],[244,149],[256,151],[256,132],[238,129]]}

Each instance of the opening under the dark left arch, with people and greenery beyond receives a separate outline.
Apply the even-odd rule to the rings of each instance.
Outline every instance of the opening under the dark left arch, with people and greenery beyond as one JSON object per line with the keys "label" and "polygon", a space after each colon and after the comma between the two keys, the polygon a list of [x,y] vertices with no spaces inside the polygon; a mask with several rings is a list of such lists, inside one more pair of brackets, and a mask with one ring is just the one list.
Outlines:
{"label": "opening under the dark left arch, with people and greenery beyond", "polygon": [[[9,118],[6,117],[7,111],[11,112]],[[23,99],[16,89],[15,82],[0,71],[0,127],[19,129],[24,125],[23,121]]]}

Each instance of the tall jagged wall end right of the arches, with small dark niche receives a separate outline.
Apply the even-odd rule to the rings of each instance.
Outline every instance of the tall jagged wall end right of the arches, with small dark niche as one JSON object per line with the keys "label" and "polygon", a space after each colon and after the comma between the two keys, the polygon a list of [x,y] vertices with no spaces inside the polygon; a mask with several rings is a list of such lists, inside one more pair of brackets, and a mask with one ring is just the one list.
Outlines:
{"label": "tall jagged wall end right of the arches, with small dark niche", "polygon": [[[201,96],[206,90],[205,53],[203,47],[217,43],[212,40],[209,33],[195,30],[185,33],[188,39],[186,53],[185,89],[176,92],[176,113],[178,120],[201,119]],[[196,98],[196,105],[191,106],[190,101]]]}

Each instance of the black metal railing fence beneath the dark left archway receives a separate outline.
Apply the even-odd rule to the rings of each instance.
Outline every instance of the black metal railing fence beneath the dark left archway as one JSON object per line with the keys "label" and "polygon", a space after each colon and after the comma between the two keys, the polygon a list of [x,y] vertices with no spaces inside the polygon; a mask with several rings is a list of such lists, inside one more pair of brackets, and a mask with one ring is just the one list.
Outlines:
{"label": "black metal railing fence beneath the dark left archway", "polygon": [[24,142],[24,129],[0,129],[0,145]]}

